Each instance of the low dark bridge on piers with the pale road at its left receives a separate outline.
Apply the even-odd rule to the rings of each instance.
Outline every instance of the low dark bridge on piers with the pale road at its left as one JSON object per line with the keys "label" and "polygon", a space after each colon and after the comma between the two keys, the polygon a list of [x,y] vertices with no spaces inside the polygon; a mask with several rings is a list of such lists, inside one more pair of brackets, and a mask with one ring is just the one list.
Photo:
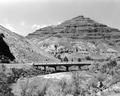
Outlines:
{"label": "low dark bridge on piers with the pale road at its left", "polygon": [[82,66],[89,66],[91,64],[93,64],[93,61],[82,61],[82,62],[58,62],[58,63],[54,63],[54,62],[44,62],[44,63],[16,63],[16,64],[8,64],[8,63],[0,63],[2,65],[5,65],[7,68],[30,68],[31,66],[33,66],[36,69],[40,69],[43,67],[43,70],[46,71],[47,68],[54,68],[54,70],[57,72],[57,67],[60,66],[64,66],[66,69],[66,71],[69,71],[69,67],[71,66],[78,66],[80,69]]}

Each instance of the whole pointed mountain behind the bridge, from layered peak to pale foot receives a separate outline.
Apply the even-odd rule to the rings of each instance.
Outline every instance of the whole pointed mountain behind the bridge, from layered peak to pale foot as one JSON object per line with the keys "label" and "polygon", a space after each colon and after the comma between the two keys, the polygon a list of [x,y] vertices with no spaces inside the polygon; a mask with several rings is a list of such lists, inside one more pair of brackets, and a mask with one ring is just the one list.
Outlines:
{"label": "whole pointed mountain behind the bridge, from layered peak to pale foot", "polygon": [[29,34],[27,38],[56,58],[111,57],[119,55],[120,31],[78,16]]}

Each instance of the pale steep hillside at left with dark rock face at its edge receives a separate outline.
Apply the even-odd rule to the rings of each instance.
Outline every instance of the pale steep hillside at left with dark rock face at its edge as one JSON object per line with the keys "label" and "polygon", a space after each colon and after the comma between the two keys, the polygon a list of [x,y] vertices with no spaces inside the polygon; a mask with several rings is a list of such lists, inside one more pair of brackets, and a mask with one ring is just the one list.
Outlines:
{"label": "pale steep hillside at left with dark rock face at its edge", "polygon": [[[53,62],[54,60],[36,52],[35,45],[29,42],[26,38],[11,32],[10,30],[0,26],[1,49],[0,59],[9,58],[13,63],[31,63],[31,62]],[[2,44],[3,43],[3,44]],[[6,47],[7,46],[7,47]],[[6,49],[5,49],[6,48]],[[7,56],[8,52],[11,56]],[[7,55],[5,55],[7,54]],[[12,59],[10,58],[12,57]],[[8,62],[3,62],[8,63]]]}

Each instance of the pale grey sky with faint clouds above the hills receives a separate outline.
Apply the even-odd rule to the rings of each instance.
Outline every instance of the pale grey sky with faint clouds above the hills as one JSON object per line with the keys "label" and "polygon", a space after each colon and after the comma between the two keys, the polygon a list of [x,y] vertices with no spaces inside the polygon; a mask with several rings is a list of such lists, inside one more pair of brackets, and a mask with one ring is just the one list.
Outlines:
{"label": "pale grey sky with faint clouds above the hills", "polygon": [[120,29],[120,0],[0,0],[0,25],[23,36],[79,15]]}

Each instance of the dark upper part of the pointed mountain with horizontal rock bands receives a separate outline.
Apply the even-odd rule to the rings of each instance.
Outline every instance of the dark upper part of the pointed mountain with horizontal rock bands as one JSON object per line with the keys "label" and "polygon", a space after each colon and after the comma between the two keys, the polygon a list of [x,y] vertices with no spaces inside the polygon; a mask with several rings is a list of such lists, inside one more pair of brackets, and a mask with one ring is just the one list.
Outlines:
{"label": "dark upper part of the pointed mountain with horizontal rock bands", "polygon": [[73,39],[85,40],[106,40],[113,44],[119,43],[120,31],[110,28],[107,25],[98,23],[90,18],[78,16],[70,20],[66,20],[57,26],[48,26],[36,30],[27,36],[29,39],[44,39],[49,36],[68,37]]}

